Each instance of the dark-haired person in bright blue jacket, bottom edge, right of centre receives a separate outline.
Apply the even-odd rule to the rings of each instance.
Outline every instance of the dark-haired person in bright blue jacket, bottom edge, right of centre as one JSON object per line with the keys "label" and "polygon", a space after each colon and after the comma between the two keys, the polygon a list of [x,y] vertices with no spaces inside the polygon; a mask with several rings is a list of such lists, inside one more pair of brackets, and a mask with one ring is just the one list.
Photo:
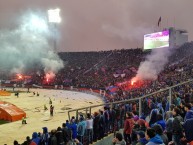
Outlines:
{"label": "dark-haired person in bright blue jacket, bottom edge, right of centre", "polygon": [[156,135],[156,132],[152,128],[148,128],[145,132],[145,138],[148,140],[146,145],[164,145],[163,140],[159,135]]}

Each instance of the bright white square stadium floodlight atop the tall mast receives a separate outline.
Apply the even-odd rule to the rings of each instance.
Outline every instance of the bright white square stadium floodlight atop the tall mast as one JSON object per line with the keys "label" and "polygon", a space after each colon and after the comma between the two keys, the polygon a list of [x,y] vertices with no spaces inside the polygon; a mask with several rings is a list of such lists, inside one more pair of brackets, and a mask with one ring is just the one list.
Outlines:
{"label": "bright white square stadium floodlight atop the tall mast", "polygon": [[61,17],[60,17],[60,9],[50,9],[48,10],[48,21],[50,23],[60,23]]}

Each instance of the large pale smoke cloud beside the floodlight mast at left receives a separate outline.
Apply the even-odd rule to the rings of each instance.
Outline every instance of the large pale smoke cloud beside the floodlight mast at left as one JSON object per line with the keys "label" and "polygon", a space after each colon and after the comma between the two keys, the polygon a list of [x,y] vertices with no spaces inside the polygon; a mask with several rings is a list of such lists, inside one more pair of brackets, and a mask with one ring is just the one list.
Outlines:
{"label": "large pale smoke cloud beside the floodlight mast at left", "polygon": [[16,28],[0,30],[0,69],[22,73],[39,66],[58,72],[63,62],[53,51],[53,30],[44,14],[27,12],[19,20]]}

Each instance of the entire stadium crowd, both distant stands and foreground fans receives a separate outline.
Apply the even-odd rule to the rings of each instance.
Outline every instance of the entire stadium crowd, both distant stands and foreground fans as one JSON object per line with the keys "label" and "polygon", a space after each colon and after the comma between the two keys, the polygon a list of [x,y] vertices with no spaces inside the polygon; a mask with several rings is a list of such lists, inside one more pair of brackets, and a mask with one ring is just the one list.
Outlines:
{"label": "entire stadium crowd, both distant stands and foreground fans", "polygon": [[[140,62],[150,52],[141,49],[122,49],[105,52],[61,53],[66,66],[48,85],[64,85],[105,90],[117,86],[110,94],[106,89],[106,102],[138,98],[146,94],[192,79],[193,43],[175,49],[169,63],[155,81],[124,84],[136,75]],[[124,75],[123,75],[124,74]],[[117,77],[118,76],[118,77]],[[42,85],[44,74],[34,72],[30,83]],[[121,85],[117,85],[121,84]],[[172,104],[169,92],[164,91],[142,99],[142,114],[138,102],[105,106],[94,114],[80,114],[79,118],[62,124],[48,133],[34,132],[23,144],[43,142],[46,145],[91,144],[115,133],[112,143],[117,145],[193,144],[193,83],[172,89]],[[123,128],[123,136],[116,132]],[[46,135],[45,135],[46,130]],[[17,144],[17,142],[15,143]]]}

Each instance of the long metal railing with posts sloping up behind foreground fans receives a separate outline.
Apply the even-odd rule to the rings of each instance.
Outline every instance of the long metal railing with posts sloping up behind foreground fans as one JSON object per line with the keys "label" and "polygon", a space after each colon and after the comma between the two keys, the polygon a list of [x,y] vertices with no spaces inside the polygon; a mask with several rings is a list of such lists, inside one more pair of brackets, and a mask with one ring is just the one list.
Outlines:
{"label": "long metal railing with posts sloping up behind foreground fans", "polygon": [[[133,99],[128,99],[128,100],[122,100],[122,101],[116,101],[116,102],[110,102],[110,103],[103,103],[103,104],[98,104],[98,105],[92,105],[92,106],[88,106],[88,107],[82,107],[82,108],[78,108],[78,109],[71,109],[68,111],[68,118],[69,120],[71,119],[71,113],[72,112],[75,112],[75,116],[76,116],[76,119],[78,119],[78,115],[80,113],[81,110],[84,110],[85,113],[92,113],[92,110],[94,108],[97,108],[97,107],[102,107],[102,106],[106,106],[106,105],[110,105],[110,106],[113,106],[114,104],[120,104],[120,103],[128,103],[128,102],[137,102],[138,101],[138,109],[139,109],[139,115],[142,114],[142,99],[144,98],[147,98],[147,97],[150,97],[150,96],[153,96],[155,94],[158,94],[158,93],[161,93],[161,92],[166,92],[168,91],[169,95],[169,104],[172,104],[172,89],[175,88],[175,87],[178,87],[178,86],[181,86],[181,85],[185,85],[185,84],[189,84],[193,82],[193,79],[190,79],[188,81],[185,81],[185,82],[182,82],[182,83],[179,83],[177,85],[174,85],[174,86],[171,86],[171,87],[167,87],[165,89],[160,89],[159,91],[156,91],[156,92],[153,92],[153,93],[150,93],[150,94],[147,94],[147,95],[144,95],[142,97],[138,97],[138,98],[133,98]],[[82,113],[82,112],[81,112]]]}

